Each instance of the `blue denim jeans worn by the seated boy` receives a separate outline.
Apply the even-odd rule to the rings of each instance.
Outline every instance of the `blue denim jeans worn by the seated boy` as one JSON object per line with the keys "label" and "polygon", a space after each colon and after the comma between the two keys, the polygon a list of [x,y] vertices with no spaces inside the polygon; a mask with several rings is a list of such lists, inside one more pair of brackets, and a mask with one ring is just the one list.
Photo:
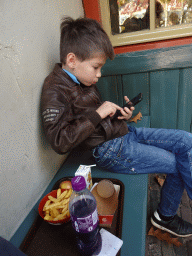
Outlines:
{"label": "blue denim jeans worn by the seated boy", "polygon": [[182,130],[135,128],[93,149],[96,163],[125,174],[166,173],[159,211],[173,216],[186,189],[192,199],[192,134]]}

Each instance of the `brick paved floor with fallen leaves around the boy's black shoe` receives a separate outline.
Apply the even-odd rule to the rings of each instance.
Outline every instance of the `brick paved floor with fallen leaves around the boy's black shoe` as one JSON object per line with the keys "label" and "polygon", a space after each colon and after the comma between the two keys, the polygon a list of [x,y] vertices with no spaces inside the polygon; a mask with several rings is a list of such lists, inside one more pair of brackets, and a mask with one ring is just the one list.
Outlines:
{"label": "brick paved floor with fallen leaves around the boy's black shoe", "polygon": [[[160,178],[164,178],[163,175],[159,176]],[[161,241],[155,236],[148,235],[148,232],[152,227],[150,216],[157,208],[159,203],[160,189],[161,186],[157,182],[156,174],[149,175],[145,256],[192,256],[192,236],[189,238],[178,238],[179,242],[183,244],[182,246],[178,247],[166,241]],[[184,220],[192,223],[192,201],[189,199],[186,191],[184,191],[182,201],[178,209],[178,215],[181,216]],[[176,238],[174,236],[171,237]]]}

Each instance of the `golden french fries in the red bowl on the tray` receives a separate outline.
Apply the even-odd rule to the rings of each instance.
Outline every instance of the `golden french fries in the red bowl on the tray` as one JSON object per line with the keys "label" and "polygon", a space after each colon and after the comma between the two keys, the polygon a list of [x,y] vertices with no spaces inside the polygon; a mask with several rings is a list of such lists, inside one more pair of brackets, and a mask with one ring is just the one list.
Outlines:
{"label": "golden french fries in the red bowl on the tray", "polygon": [[61,189],[57,189],[57,198],[48,196],[48,200],[43,207],[45,214],[44,220],[58,221],[70,217],[69,199],[72,194],[72,188],[66,189],[61,193]]}

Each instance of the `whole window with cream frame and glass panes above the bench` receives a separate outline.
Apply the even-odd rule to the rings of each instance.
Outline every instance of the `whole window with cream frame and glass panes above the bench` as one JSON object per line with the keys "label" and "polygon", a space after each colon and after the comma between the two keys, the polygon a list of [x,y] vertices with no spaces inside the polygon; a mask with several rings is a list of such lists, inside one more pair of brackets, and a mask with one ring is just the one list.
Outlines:
{"label": "whole window with cream frame and glass panes above the bench", "polygon": [[100,0],[100,6],[114,45],[192,34],[192,0]]}

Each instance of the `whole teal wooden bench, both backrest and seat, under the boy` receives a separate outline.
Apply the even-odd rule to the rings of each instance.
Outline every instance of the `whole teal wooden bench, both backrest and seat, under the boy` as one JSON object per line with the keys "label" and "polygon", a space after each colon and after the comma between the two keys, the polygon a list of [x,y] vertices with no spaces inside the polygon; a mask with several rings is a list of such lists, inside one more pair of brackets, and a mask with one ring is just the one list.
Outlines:
{"label": "whole teal wooden bench, both backrest and seat, under the boy", "polygon": [[[192,46],[186,45],[119,55],[114,61],[107,61],[98,88],[104,100],[120,106],[123,105],[124,95],[132,98],[143,93],[143,101],[135,109],[135,113],[141,111],[143,118],[137,124],[130,125],[177,128],[191,132],[191,81]],[[80,164],[92,164],[92,161],[88,152],[72,152],[44,194],[60,178],[74,176]],[[124,183],[121,255],[144,256],[148,175],[110,173],[96,166],[92,168],[92,176],[116,178]],[[38,203],[11,239],[17,247],[38,215]]]}

